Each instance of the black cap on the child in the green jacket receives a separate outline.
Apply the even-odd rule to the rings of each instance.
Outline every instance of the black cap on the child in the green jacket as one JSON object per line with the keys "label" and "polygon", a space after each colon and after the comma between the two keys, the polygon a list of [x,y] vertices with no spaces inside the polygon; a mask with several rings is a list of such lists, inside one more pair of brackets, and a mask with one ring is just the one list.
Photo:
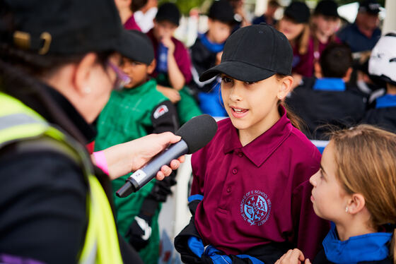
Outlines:
{"label": "black cap on the child in the green jacket", "polygon": [[154,59],[154,49],[147,35],[137,30],[127,30],[126,37],[125,41],[131,47],[131,52],[124,57],[132,59],[132,61],[139,61],[142,64],[151,64]]}

